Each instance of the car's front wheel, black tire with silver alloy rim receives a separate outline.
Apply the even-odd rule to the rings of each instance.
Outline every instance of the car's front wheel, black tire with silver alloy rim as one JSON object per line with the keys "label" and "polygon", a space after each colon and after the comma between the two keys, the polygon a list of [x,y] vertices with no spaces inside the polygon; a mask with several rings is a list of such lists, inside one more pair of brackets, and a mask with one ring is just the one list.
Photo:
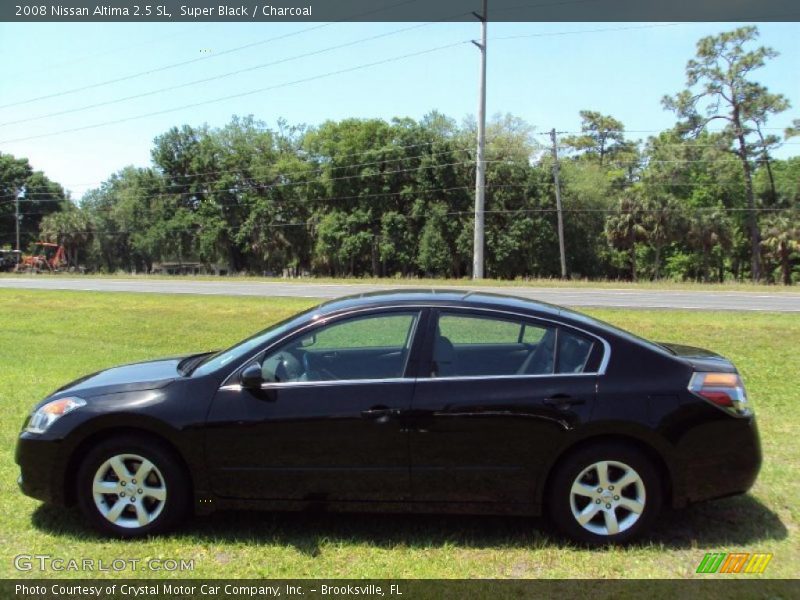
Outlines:
{"label": "car's front wheel, black tire with silver alloy rim", "polygon": [[[122,464],[132,479],[123,480],[116,476],[116,469],[106,466],[107,461],[113,457],[124,457]],[[133,483],[137,466],[142,464],[133,457],[146,459],[154,467],[146,474],[144,485],[139,481]],[[100,500],[96,501],[93,487],[101,468],[106,473],[102,484],[108,484],[110,488],[116,487],[124,498],[114,492],[100,495]],[[121,485],[125,487],[120,487]],[[148,490],[153,490],[153,494],[160,494],[159,490],[162,488],[163,500],[147,495]],[[191,510],[189,478],[172,450],[155,438],[128,434],[103,440],[86,454],[78,468],[76,499],[84,516],[94,528],[104,534],[121,538],[164,533],[175,527]],[[98,506],[98,502],[101,502],[113,514],[112,510],[120,501],[125,504],[120,505],[124,508],[116,522],[104,516]],[[127,505],[128,501],[131,503],[130,507]],[[139,502],[138,506],[136,502]],[[148,515],[146,524],[140,524],[139,511]]]}

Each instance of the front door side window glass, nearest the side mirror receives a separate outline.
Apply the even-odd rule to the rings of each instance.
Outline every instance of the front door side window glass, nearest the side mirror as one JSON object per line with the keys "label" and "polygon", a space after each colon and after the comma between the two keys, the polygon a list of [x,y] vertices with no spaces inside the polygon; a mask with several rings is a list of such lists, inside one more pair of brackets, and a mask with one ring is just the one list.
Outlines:
{"label": "front door side window glass, nearest the side mirror", "polygon": [[272,383],[402,377],[418,312],[354,317],[308,332],[267,354],[261,364]]}

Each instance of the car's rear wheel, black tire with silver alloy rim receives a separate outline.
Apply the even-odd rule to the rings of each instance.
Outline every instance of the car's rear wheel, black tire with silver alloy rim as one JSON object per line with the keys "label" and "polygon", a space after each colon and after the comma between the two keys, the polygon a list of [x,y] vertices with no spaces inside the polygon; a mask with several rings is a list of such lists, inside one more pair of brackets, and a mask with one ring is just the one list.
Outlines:
{"label": "car's rear wheel, black tire with silver alloy rim", "polygon": [[[598,477],[598,468],[602,468],[599,464],[603,462],[608,463],[605,486]],[[629,471],[623,467],[628,467]],[[661,511],[663,488],[658,469],[633,446],[615,442],[585,446],[568,454],[555,469],[547,490],[548,515],[558,530],[572,541],[592,546],[630,542],[647,531]],[[638,477],[634,483],[623,485],[620,491],[619,486],[613,484],[624,484],[626,473],[629,473],[628,478]],[[583,477],[578,480],[581,475]],[[573,495],[572,486],[576,481],[586,487],[580,488],[581,494]],[[592,496],[582,495],[584,491]],[[638,513],[627,508],[640,505],[643,509]],[[594,516],[582,525],[573,511],[585,514],[584,518],[592,513]],[[615,521],[618,532],[609,533]]]}

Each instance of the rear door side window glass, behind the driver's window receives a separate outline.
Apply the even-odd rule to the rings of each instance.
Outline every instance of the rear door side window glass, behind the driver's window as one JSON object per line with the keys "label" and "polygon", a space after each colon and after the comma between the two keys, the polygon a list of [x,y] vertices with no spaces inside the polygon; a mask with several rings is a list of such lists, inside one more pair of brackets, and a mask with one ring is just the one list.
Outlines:
{"label": "rear door side window glass, behind the driver's window", "polygon": [[509,317],[439,315],[432,377],[583,373],[594,342],[569,329]]}

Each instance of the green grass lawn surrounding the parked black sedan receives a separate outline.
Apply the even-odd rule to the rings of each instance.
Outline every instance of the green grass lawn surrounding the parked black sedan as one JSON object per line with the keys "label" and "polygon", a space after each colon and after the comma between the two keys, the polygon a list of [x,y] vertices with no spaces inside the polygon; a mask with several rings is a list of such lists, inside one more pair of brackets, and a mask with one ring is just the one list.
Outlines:
{"label": "green grass lawn surrounding the parked black sedan", "polygon": [[182,574],[121,574],[146,577],[691,577],[706,552],[725,551],[772,552],[766,577],[800,570],[800,318],[794,315],[587,311],[646,337],[733,359],[764,445],[751,494],[665,514],[649,538],[624,549],[573,547],[534,519],[254,512],[197,518],[168,537],[120,542],[95,535],[76,510],[42,506],[18,491],[19,428],[31,405],[59,385],[122,362],[227,346],[311,303],[0,291],[0,577],[20,576],[13,567],[20,553],[195,561],[195,570]]}

